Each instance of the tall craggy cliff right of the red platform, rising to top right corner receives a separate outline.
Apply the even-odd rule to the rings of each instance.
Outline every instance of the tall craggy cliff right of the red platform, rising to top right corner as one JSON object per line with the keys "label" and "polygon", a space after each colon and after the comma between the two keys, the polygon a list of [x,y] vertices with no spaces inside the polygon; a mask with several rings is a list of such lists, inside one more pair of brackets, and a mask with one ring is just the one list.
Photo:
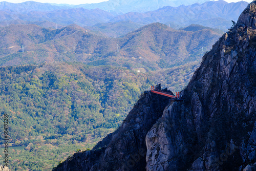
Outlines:
{"label": "tall craggy cliff right of the red platform, rising to top right corner", "polygon": [[255,3],[203,57],[185,100],[148,132],[146,170],[256,168]]}

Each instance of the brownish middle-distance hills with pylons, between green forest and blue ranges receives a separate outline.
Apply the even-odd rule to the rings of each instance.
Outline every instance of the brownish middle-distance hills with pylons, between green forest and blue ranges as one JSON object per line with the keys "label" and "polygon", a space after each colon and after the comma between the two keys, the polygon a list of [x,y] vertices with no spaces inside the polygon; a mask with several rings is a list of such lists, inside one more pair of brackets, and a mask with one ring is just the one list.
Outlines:
{"label": "brownish middle-distance hills with pylons, between green forest and blue ranges", "polygon": [[175,30],[153,23],[123,37],[111,38],[77,25],[55,30],[36,25],[10,25],[0,29],[0,65],[79,61],[92,66],[112,65],[146,71],[171,68],[199,61],[202,50],[209,50],[221,36],[216,30],[197,28]]}

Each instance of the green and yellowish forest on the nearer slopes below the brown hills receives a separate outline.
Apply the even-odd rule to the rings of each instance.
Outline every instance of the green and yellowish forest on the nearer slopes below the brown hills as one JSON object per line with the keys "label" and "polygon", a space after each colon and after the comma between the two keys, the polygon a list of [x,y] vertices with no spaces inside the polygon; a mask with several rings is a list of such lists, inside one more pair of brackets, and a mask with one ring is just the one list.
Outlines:
{"label": "green and yellowish forest on the nearer slopes below the brown hills", "polygon": [[[180,91],[197,66],[161,73],[74,62],[1,67],[0,111],[9,117],[9,168],[51,170],[75,152],[91,149],[118,128],[152,84],[161,81]],[[4,122],[0,126],[3,135]]]}

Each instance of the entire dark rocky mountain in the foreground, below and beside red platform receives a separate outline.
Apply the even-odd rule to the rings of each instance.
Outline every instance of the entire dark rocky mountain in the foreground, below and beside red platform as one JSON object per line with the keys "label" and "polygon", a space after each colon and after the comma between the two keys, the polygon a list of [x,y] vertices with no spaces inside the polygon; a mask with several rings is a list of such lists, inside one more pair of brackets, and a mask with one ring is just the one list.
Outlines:
{"label": "entire dark rocky mountain in the foreground, below and beside red platform", "polygon": [[183,101],[145,92],[116,132],[54,170],[256,170],[255,17],[253,1],[204,55]]}

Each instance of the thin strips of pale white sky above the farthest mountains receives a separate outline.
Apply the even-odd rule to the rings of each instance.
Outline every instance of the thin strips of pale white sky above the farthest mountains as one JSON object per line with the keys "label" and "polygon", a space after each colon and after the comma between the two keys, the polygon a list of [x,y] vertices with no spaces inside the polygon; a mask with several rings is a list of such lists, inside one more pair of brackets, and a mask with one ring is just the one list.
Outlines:
{"label": "thin strips of pale white sky above the farthest mountains", "polygon": [[[0,2],[2,1],[7,1],[10,3],[22,3],[28,0],[0,0]],[[87,4],[87,3],[100,3],[103,1],[108,1],[108,0],[31,0],[31,1],[35,1],[35,2],[40,2],[40,3],[56,3],[56,4]],[[188,0],[189,1],[189,0]],[[231,2],[239,2],[240,0],[224,0],[228,3]],[[248,3],[252,2],[252,0],[244,0]]]}

